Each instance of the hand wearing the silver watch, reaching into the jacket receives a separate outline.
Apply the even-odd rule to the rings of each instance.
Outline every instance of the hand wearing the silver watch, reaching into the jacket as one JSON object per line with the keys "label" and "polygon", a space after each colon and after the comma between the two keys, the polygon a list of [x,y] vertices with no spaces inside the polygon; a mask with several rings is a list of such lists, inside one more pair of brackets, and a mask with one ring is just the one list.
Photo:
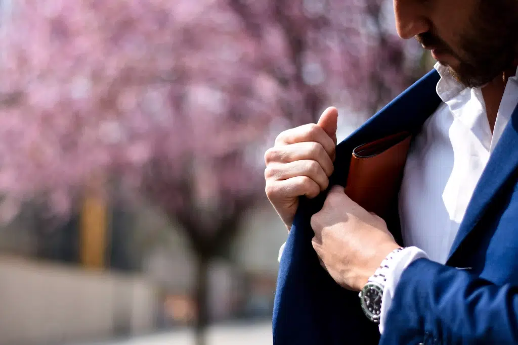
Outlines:
{"label": "hand wearing the silver watch, reaching into the jacket", "polygon": [[334,186],[322,210],[311,217],[313,248],[322,266],[343,288],[360,291],[383,259],[399,245],[385,221]]}

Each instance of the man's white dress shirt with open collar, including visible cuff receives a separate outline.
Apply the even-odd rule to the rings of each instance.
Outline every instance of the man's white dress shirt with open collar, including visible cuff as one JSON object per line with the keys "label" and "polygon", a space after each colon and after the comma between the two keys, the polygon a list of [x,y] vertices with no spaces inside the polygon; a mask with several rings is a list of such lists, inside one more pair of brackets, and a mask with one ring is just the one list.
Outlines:
{"label": "man's white dress shirt with open collar, including visible cuff", "polygon": [[[493,133],[480,88],[465,88],[436,64],[443,101],[415,137],[399,191],[399,217],[405,246],[390,265],[383,291],[380,332],[397,282],[418,258],[444,264],[473,191],[518,103],[518,79],[509,78]],[[517,70],[518,74],[518,70]]]}

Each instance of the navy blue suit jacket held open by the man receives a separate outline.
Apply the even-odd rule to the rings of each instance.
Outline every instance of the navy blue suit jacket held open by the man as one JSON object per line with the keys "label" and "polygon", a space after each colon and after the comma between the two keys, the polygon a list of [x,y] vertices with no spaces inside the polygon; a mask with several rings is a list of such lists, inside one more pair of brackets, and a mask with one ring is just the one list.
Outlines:
{"label": "navy blue suit jacket held open by the man", "polygon": [[[420,131],[441,100],[433,70],[337,146],[330,185],[347,179],[352,149]],[[473,193],[446,265],[426,259],[402,274],[380,339],[357,292],[338,286],[311,245],[326,193],[301,199],[279,267],[274,345],[518,344],[518,107]],[[387,226],[401,243],[397,202]],[[457,269],[456,267],[471,267]]]}

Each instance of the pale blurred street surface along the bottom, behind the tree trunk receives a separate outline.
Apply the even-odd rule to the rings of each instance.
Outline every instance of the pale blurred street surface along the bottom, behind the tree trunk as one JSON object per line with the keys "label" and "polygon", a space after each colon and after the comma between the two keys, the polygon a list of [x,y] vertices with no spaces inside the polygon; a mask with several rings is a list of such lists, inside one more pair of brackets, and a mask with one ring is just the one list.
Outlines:
{"label": "pale blurred street surface along the bottom, behind the tree trunk", "polygon": [[[270,345],[272,344],[271,323],[210,327],[207,329],[207,340],[207,345]],[[194,343],[192,332],[182,330],[119,341],[67,345],[192,345]]]}

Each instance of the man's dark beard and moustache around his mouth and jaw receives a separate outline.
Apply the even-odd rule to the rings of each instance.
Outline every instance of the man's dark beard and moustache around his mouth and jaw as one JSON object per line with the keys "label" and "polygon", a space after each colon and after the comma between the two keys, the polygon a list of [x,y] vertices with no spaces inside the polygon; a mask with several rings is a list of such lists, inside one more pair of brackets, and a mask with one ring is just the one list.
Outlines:
{"label": "man's dark beard and moustache around his mouth and jaw", "polygon": [[437,47],[441,53],[457,59],[455,68],[445,66],[458,82],[466,87],[480,87],[513,66],[518,52],[517,4],[516,0],[480,0],[469,27],[459,35],[457,50],[432,32],[415,38],[423,46]]}

